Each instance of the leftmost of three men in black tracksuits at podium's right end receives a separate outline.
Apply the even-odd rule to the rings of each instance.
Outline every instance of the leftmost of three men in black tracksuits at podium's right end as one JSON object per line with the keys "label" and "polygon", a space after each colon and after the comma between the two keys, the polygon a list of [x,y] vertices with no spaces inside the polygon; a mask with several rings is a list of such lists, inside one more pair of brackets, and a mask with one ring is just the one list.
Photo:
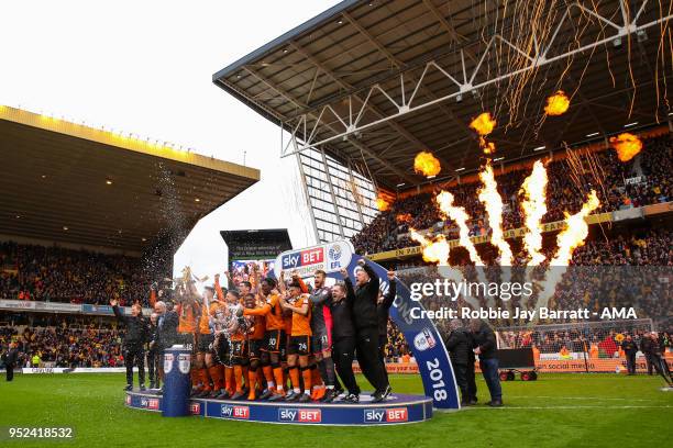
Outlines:
{"label": "leftmost of three men in black tracksuits at podium's right end", "polygon": [[336,366],[336,373],[349,393],[343,399],[345,402],[357,403],[360,401],[360,387],[353,373],[353,359],[355,358],[355,325],[353,323],[352,306],[355,300],[355,290],[349,279],[347,271],[341,270],[344,278],[343,283],[332,288],[332,301],[330,311],[332,313],[332,357]]}

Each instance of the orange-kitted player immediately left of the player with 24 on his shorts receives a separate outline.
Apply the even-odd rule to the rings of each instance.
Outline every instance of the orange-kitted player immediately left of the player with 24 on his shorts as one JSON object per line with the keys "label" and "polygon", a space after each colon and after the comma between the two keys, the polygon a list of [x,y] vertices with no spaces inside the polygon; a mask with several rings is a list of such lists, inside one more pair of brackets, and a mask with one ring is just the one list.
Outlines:
{"label": "orange-kitted player immediately left of the player with 24 on his shorts", "polygon": [[274,289],[275,285],[276,282],[272,278],[262,280],[257,307],[244,311],[246,316],[264,317],[266,321],[264,341],[260,349],[260,363],[266,379],[266,390],[260,399],[269,401],[285,397],[283,368],[280,367],[280,355],[285,350],[286,343],[285,322],[279,293]]}

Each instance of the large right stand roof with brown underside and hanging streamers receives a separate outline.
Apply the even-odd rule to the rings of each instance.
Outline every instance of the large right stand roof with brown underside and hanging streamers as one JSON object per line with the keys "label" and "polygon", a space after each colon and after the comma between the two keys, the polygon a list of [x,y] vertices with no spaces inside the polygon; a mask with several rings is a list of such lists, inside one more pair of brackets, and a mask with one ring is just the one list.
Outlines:
{"label": "large right stand roof with brown underside and hanging streamers", "polygon": [[[644,0],[346,0],[212,79],[297,137],[284,155],[322,147],[409,188],[427,181],[420,150],[441,160],[435,180],[478,168],[468,123],[484,108],[505,163],[665,121],[670,19]],[[571,109],[545,119],[558,89]]]}

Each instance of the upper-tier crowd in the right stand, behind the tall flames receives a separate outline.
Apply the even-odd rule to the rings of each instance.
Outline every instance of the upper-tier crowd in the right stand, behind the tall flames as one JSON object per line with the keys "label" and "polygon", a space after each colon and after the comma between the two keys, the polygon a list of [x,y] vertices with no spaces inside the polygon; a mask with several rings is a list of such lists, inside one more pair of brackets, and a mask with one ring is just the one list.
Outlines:
{"label": "upper-tier crowd in the right stand, behind the tall flames", "polygon": [[[671,134],[644,139],[643,144],[642,153],[626,164],[619,161],[613,149],[580,152],[577,157],[549,163],[548,213],[543,222],[561,221],[564,212],[577,212],[592,189],[597,191],[602,203],[596,213],[668,202],[673,195],[670,179],[673,170]],[[497,175],[498,169],[495,171]],[[529,171],[530,168],[517,169],[496,176],[504,202],[503,226],[506,229],[522,226],[518,193]],[[478,201],[479,187],[479,182],[471,182],[448,189],[455,197],[454,203],[465,208],[471,216],[467,224],[473,236],[488,232],[484,205]],[[457,227],[442,221],[433,195],[421,193],[394,202],[352,242],[360,254],[413,246],[416,243],[408,236],[409,227],[457,237]]]}

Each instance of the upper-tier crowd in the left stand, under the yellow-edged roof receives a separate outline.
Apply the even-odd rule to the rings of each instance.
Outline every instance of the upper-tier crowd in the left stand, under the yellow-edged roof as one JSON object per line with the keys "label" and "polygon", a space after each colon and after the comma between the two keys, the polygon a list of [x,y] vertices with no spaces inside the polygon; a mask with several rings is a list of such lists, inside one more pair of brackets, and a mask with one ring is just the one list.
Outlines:
{"label": "upper-tier crowd in the left stand, under the yellow-edged roof", "polygon": [[0,243],[0,298],[147,305],[150,276],[141,259],[62,247]]}

